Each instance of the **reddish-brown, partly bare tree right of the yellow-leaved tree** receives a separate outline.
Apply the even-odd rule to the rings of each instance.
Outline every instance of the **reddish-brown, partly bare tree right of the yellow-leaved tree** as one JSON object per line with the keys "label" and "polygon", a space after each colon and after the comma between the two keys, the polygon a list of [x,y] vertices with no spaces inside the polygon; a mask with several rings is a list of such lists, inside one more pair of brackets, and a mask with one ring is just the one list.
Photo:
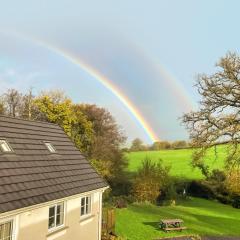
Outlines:
{"label": "reddish-brown, partly bare tree right of the yellow-leaved tree", "polygon": [[94,132],[88,156],[98,172],[111,183],[127,166],[121,151],[126,138],[106,109],[91,104],[82,104],[79,108],[92,123]]}

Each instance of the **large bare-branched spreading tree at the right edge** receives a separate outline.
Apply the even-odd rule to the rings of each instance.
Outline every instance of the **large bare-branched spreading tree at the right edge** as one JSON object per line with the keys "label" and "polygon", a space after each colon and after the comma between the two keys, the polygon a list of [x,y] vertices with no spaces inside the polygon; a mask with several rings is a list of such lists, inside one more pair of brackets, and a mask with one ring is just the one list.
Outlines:
{"label": "large bare-branched spreading tree at the right edge", "polygon": [[214,74],[199,75],[196,84],[200,108],[183,116],[195,147],[193,162],[203,161],[207,149],[228,143],[226,167],[240,163],[240,57],[228,53],[217,63]]}

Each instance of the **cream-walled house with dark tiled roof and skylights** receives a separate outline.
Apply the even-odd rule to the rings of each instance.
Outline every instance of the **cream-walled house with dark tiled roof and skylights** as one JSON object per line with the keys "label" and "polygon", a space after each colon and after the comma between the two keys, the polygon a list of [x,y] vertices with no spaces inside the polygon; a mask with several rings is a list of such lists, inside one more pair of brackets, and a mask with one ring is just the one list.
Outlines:
{"label": "cream-walled house with dark tiled roof and skylights", "polygon": [[106,188],[59,126],[0,116],[0,240],[100,240]]}

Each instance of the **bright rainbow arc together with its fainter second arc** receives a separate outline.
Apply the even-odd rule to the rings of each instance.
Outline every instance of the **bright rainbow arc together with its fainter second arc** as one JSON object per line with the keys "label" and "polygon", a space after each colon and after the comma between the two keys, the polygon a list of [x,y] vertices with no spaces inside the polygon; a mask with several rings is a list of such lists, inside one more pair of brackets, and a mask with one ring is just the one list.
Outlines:
{"label": "bright rainbow arc together with its fainter second arc", "polygon": [[[2,34],[7,34],[10,36],[15,36],[17,38],[30,41],[33,44],[36,44],[40,47],[44,47],[47,50],[51,51],[54,54],[57,54],[58,56],[63,57],[65,60],[71,62],[72,64],[79,67],[81,70],[88,73],[90,76],[95,78],[97,81],[99,81],[103,86],[105,86],[109,91],[112,92],[114,96],[116,96],[120,102],[126,107],[126,109],[131,113],[134,119],[139,123],[139,125],[142,127],[146,135],[148,136],[149,140],[152,142],[159,141],[159,138],[157,134],[154,132],[154,130],[151,128],[150,124],[146,121],[143,114],[139,111],[137,106],[135,106],[129,98],[116,86],[113,84],[113,81],[108,79],[106,76],[104,76],[101,72],[99,72],[97,69],[93,68],[86,62],[84,62],[79,56],[75,56],[70,51],[62,48],[57,47],[55,44],[51,44],[49,42],[36,39],[29,35],[23,35],[16,31],[7,31],[7,32],[1,32]],[[175,95],[178,95],[178,98],[182,99],[188,109],[192,109],[193,103],[191,99],[189,98],[187,92],[185,89],[181,86],[177,80],[170,75],[160,64],[155,65],[157,67],[159,73],[168,80],[168,84],[170,84],[170,88],[174,91]]]}

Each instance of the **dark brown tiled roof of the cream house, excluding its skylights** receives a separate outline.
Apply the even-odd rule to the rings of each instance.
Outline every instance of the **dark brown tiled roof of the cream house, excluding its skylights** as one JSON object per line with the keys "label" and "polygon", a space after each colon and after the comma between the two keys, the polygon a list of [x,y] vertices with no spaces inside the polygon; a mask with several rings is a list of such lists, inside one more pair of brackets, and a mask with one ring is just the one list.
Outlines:
{"label": "dark brown tiled roof of the cream house, excluding its skylights", "polygon": [[0,115],[0,139],[0,213],[107,186],[58,125]]}

